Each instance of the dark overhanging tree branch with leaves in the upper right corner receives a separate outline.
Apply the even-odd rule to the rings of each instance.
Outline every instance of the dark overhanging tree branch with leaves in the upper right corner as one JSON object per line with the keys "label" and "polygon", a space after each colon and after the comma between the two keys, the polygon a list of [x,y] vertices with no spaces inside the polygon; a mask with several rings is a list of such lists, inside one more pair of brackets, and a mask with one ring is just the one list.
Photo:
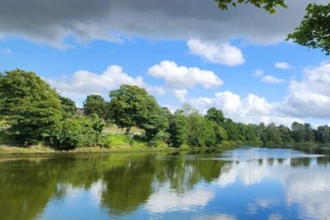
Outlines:
{"label": "dark overhanging tree branch with leaves in the upper right corner", "polygon": [[306,8],[307,14],[303,21],[288,34],[287,40],[311,48],[321,48],[325,54],[330,54],[330,3],[316,5],[310,3]]}

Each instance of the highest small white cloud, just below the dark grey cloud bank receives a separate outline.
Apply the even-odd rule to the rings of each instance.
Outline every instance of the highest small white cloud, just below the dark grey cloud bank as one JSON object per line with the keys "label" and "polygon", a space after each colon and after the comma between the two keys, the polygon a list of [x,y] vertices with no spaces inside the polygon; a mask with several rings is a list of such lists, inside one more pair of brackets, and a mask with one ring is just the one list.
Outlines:
{"label": "highest small white cloud, just below the dark grey cloud bank", "polygon": [[201,42],[198,39],[190,39],[187,43],[190,54],[201,56],[210,63],[219,63],[228,66],[245,63],[243,53],[239,48],[229,43],[215,45],[209,42]]}

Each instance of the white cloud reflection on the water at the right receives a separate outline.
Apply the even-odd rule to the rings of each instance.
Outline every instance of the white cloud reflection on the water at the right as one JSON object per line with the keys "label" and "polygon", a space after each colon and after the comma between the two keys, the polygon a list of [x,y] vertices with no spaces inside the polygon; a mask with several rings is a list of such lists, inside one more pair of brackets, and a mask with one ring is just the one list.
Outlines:
{"label": "white cloud reflection on the water at the right", "polygon": [[[259,150],[260,151],[260,150]],[[327,175],[329,169],[320,168],[317,164],[316,157],[320,155],[307,155],[305,153],[297,153],[290,150],[281,150],[272,152],[274,163],[272,166],[267,164],[269,152],[271,150],[263,150],[266,152],[260,153],[256,148],[251,148],[248,151],[233,152],[238,156],[239,163],[228,164],[223,170],[216,184],[221,188],[243,182],[245,186],[260,184],[265,179],[269,181],[278,181],[283,186],[285,200],[287,206],[298,204],[299,219],[327,219],[330,216],[330,176]],[[290,151],[290,152],[283,152]],[[237,153],[237,155],[235,155]],[[242,155],[243,153],[243,155]],[[283,155],[285,157],[283,158]],[[235,161],[234,157],[230,157],[231,161]],[[228,159],[228,157],[225,157]],[[242,161],[242,158],[244,161]],[[278,163],[276,158],[285,159],[282,164]],[[311,159],[308,167],[292,167],[292,164],[297,161],[297,158]],[[294,161],[292,161],[294,159]],[[263,163],[259,163],[262,160]],[[248,208],[252,208],[252,212],[256,212],[258,208],[265,208],[271,205],[267,198],[257,200],[255,204],[249,204]]]}

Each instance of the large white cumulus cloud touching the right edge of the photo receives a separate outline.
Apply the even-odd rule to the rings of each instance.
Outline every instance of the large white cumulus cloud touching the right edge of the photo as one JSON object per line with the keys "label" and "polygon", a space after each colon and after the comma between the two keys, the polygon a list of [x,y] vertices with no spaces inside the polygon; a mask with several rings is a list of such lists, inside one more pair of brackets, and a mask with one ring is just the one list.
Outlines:
{"label": "large white cumulus cloud touching the right edge of the photo", "polygon": [[298,117],[330,117],[330,63],[305,69],[303,80],[293,80],[281,107]]}

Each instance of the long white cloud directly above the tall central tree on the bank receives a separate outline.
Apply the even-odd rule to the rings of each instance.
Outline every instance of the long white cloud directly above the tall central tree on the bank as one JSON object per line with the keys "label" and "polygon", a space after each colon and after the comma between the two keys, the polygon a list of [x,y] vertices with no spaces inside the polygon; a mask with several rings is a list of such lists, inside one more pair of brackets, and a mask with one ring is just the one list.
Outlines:
{"label": "long white cloud directly above the tall central tree on the bank", "polygon": [[109,66],[102,74],[80,70],[75,72],[72,77],[64,77],[60,80],[51,78],[47,81],[52,87],[55,87],[67,96],[105,95],[110,90],[117,89],[122,84],[144,87],[152,94],[162,95],[165,93],[162,87],[155,87],[144,83],[141,76],[135,78],[129,76],[118,65]]}

